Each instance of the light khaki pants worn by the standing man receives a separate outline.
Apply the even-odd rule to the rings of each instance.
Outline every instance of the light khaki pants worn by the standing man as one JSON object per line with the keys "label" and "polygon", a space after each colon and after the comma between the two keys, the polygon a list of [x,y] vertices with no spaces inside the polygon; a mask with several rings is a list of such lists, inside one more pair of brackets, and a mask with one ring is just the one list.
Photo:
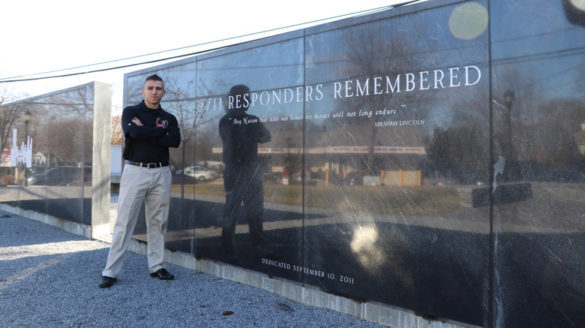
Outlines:
{"label": "light khaki pants worn by the standing man", "polygon": [[170,189],[171,171],[168,166],[153,169],[124,166],[120,181],[118,218],[103,276],[115,278],[120,273],[124,253],[128,249],[143,204],[146,214],[148,268],[151,273],[163,268]]}

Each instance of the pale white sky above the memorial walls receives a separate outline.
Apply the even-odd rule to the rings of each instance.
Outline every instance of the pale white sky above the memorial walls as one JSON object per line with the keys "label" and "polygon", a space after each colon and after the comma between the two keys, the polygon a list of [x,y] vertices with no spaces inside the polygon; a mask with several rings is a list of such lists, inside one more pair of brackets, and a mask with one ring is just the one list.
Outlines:
{"label": "pale white sky above the memorial walls", "polygon": [[[189,53],[218,44],[187,48],[192,45],[400,2],[404,0],[4,1],[0,12],[0,80],[34,77],[30,75],[49,71],[58,71],[50,75],[87,71]],[[300,27],[294,29],[298,28]],[[286,31],[288,30],[272,31],[251,38]],[[227,43],[237,41],[241,40]],[[116,61],[177,48],[183,49]],[[107,61],[114,62],[73,71],[59,71]],[[143,67],[74,78],[1,83],[0,95],[4,95],[5,101],[13,101],[91,81],[101,81],[113,86],[112,103],[113,112],[116,113],[121,111],[123,74]]]}

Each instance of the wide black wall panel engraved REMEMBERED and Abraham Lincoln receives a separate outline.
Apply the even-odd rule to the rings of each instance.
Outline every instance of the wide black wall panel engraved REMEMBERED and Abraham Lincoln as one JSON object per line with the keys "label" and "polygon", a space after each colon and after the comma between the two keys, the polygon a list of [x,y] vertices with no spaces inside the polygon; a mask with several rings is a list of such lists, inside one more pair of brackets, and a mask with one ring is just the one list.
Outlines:
{"label": "wide black wall panel engraved REMEMBERED and Abraham Lincoln", "polygon": [[323,94],[306,103],[307,283],[484,322],[489,207],[471,193],[489,176],[488,33],[475,4],[486,24],[473,37],[450,29],[456,4],[305,38],[306,84]]}

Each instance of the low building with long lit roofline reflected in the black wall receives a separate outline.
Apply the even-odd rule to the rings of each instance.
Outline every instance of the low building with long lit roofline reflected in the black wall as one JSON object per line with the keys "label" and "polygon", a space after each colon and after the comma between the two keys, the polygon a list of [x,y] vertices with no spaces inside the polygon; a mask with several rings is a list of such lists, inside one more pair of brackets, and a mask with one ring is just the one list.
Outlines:
{"label": "low building with long lit roofline reflected in the black wall", "polygon": [[[369,134],[372,127],[365,124],[307,131],[304,147],[306,180],[324,184],[421,185],[420,165],[426,150],[420,128],[376,129],[373,142]],[[293,134],[296,134],[295,139]],[[301,165],[289,172],[293,167],[291,158],[301,163],[303,141],[298,139],[297,130],[285,130],[258,148],[270,172],[300,178]],[[222,148],[213,147],[212,152],[221,154]]]}

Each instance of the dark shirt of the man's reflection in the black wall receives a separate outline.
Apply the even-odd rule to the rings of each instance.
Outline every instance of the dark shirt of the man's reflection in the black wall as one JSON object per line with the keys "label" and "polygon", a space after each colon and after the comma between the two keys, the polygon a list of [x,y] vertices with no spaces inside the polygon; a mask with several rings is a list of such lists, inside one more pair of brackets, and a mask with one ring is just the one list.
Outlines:
{"label": "dark shirt of the man's reflection in the black wall", "polygon": [[223,162],[248,164],[258,160],[258,143],[270,141],[270,131],[260,119],[243,110],[230,110],[219,121]]}

